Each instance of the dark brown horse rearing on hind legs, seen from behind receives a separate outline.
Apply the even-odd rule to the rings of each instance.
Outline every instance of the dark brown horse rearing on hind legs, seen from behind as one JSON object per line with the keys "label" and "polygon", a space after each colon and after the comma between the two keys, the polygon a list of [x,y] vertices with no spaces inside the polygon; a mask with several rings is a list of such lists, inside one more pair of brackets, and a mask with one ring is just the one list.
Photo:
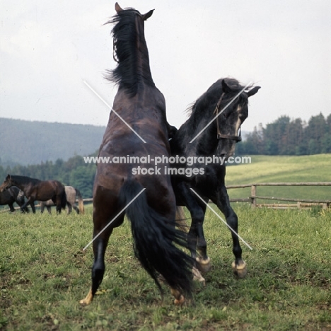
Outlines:
{"label": "dark brown horse rearing on hind legs, seen from behind", "polygon": [[[115,23],[112,35],[118,65],[110,71],[109,79],[119,87],[99,156],[170,156],[165,99],[153,83],[144,37],[144,21],[153,11],[141,15],[133,8],[123,10],[118,4],[115,10],[117,15],[108,23]],[[98,163],[93,187],[92,287],[82,304],[91,303],[103,280],[108,240],[113,228],[124,221],[123,209],[130,202],[125,213],[131,221],[134,252],[141,265],[160,290],[161,274],[175,303],[185,301],[184,295],[192,291],[193,260],[175,245],[187,246],[187,238],[175,229],[175,194],[170,175],[139,175],[138,167],[145,168],[146,164]]]}

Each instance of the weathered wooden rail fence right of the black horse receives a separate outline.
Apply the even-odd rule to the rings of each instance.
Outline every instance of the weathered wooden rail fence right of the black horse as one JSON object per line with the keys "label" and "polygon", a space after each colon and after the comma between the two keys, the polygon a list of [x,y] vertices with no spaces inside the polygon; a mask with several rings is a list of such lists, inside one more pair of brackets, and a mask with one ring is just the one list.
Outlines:
{"label": "weathered wooden rail fence right of the black horse", "polygon": [[[278,209],[288,209],[288,208],[306,208],[312,206],[321,206],[323,209],[327,209],[331,204],[331,190],[330,199],[328,200],[316,200],[316,199],[293,199],[284,197],[263,197],[257,195],[258,186],[331,186],[331,182],[259,182],[255,184],[244,184],[244,185],[228,185],[226,188],[238,189],[250,187],[250,197],[244,199],[230,199],[230,202],[250,202],[252,207],[268,207],[268,208],[278,208]],[[257,199],[261,200],[276,200],[278,202],[296,202],[296,204],[258,204]]]}

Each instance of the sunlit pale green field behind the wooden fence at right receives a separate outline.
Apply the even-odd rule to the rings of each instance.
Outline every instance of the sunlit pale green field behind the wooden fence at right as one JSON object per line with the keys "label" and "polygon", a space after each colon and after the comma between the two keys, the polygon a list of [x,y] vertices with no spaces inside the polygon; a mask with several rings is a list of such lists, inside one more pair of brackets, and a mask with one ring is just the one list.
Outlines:
{"label": "sunlit pale green field behind the wooden fence at right", "polygon": [[[252,163],[226,168],[226,185],[257,182],[331,182],[331,154],[251,156]],[[228,190],[230,198],[249,197],[250,188]],[[331,187],[257,187],[257,195],[297,199],[331,199]],[[259,203],[262,200],[259,200]]]}

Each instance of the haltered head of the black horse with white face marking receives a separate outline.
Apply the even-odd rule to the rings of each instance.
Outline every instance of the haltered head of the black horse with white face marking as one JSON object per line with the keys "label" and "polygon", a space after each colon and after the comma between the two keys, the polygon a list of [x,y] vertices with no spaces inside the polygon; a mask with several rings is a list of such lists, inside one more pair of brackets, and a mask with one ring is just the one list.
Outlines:
{"label": "haltered head of the black horse with white face marking", "polygon": [[222,93],[214,110],[217,156],[226,159],[233,156],[236,143],[241,141],[241,124],[248,117],[248,98],[255,95],[259,89],[260,86],[255,86],[242,91],[242,86],[235,79],[221,80]]}

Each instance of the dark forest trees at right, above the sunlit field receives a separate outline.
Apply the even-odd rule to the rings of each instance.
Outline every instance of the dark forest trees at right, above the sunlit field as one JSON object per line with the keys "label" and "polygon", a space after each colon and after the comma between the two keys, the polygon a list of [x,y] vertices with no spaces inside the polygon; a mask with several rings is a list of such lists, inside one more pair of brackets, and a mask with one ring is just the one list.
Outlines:
{"label": "dark forest trees at right, above the sunlit field", "polygon": [[236,146],[239,155],[310,155],[331,153],[331,114],[300,118],[281,116],[266,127],[260,125]]}

